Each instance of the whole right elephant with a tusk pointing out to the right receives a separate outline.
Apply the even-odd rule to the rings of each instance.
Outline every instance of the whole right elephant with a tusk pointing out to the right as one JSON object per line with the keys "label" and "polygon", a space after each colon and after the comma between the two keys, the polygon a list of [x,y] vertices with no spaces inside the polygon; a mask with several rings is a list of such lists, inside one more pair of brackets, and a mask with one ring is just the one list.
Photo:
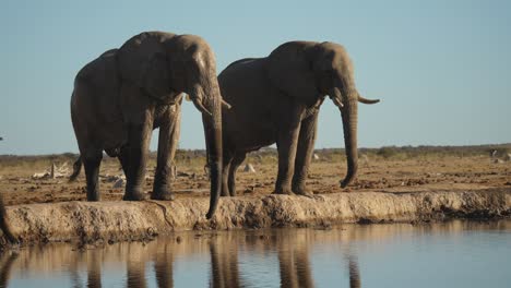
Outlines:
{"label": "whole right elephant with a tusk pointing out to the right", "polygon": [[236,169],[246,154],[276,143],[276,194],[310,195],[306,179],[313,153],[318,112],[325,96],[338,107],[344,129],[348,185],[357,173],[358,103],[345,49],[334,43],[290,41],[269,57],[242,59],[219,75],[223,111],[224,172],[222,195],[236,194]]}

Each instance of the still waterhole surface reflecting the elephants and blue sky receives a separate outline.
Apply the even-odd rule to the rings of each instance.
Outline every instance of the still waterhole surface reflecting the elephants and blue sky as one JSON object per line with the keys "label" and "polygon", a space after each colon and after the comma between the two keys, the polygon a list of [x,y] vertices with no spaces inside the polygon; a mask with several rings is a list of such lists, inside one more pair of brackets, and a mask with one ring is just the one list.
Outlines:
{"label": "still waterhole surface reflecting the elephants and blue sky", "polygon": [[511,287],[511,220],[32,247],[0,255],[0,287]]}

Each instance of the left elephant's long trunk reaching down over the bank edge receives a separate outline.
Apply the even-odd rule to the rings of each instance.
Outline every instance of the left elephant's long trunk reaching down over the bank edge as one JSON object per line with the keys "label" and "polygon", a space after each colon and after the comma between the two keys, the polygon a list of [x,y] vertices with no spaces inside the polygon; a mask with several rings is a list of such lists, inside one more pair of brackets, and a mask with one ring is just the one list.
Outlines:
{"label": "left elephant's long trunk reaching down over the bank edge", "polygon": [[195,87],[190,96],[195,107],[202,112],[211,176],[210,209],[206,218],[211,219],[215,214],[222,191],[222,96],[216,77],[215,81],[209,81],[207,85]]}

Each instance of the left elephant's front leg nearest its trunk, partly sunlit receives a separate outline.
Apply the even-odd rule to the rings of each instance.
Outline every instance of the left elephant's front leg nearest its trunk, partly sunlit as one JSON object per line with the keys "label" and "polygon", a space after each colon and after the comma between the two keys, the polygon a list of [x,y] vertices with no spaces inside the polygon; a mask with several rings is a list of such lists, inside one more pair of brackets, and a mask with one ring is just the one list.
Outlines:
{"label": "left elephant's front leg nearest its trunk, partly sunlit", "polygon": [[171,191],[171,184],[174,181],[174,156],[179,143],[181,113],[178,107],[169,109],[173,109],[171,116],[159,127],[158,158],[153,194],[151,195],[153,200],[171,201],[176,197]]}

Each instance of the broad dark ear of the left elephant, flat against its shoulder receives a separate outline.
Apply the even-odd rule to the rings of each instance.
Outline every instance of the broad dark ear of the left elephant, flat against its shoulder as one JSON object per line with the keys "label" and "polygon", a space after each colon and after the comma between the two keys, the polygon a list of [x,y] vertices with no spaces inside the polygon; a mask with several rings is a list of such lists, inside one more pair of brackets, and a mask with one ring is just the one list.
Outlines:
{"label": "broad dark ear of the left elephant, flat against its shoulder", "polygon": [[151,96],[162,98],[171,92],[166,57],[166,38],[173,34],[146,32],[133,36],[119,49],[119,71]]}

